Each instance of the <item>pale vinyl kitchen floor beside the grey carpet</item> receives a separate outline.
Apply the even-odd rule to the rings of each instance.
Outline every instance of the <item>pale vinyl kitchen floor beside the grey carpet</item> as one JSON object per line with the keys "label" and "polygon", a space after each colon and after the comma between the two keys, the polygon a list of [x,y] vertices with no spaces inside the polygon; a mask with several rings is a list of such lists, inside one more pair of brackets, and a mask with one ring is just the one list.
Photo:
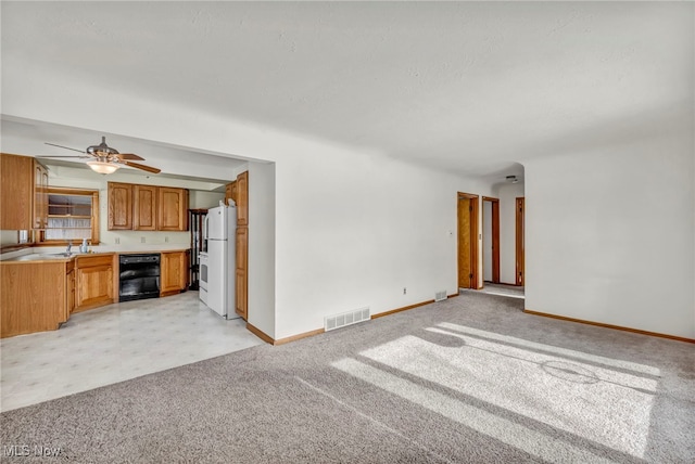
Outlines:
{"label": "pale vinyl kitchen floor beside the grey carpet", "polygon": [[73,314],[58,331],[0,341],[0,410],[10,411],[214,358],[263,340],[198,292]]}

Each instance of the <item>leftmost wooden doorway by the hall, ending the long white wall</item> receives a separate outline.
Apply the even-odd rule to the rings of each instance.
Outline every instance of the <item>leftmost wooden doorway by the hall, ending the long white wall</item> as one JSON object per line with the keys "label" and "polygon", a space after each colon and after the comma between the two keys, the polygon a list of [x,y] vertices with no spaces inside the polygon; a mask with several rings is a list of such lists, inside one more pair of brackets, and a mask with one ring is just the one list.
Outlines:
{"label": "leftmost wooden doorway by the hall, ending the long white wall", "polygon": [[458,287],[479,288],[478,202],[479,196],[458,192]]}

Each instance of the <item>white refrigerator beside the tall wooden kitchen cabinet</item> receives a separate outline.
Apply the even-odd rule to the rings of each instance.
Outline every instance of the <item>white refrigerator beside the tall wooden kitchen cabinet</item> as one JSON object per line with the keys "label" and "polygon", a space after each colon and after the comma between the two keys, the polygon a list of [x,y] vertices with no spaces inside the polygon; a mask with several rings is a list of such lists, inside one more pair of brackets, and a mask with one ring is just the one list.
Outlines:
{"label": "white refrigerator beside the tall wooden kitchen cabinet", "polygon": [[207,210],[207,301],[205,305],[226,319],[238,319],[235,310],[237,208],[220,205]]}

